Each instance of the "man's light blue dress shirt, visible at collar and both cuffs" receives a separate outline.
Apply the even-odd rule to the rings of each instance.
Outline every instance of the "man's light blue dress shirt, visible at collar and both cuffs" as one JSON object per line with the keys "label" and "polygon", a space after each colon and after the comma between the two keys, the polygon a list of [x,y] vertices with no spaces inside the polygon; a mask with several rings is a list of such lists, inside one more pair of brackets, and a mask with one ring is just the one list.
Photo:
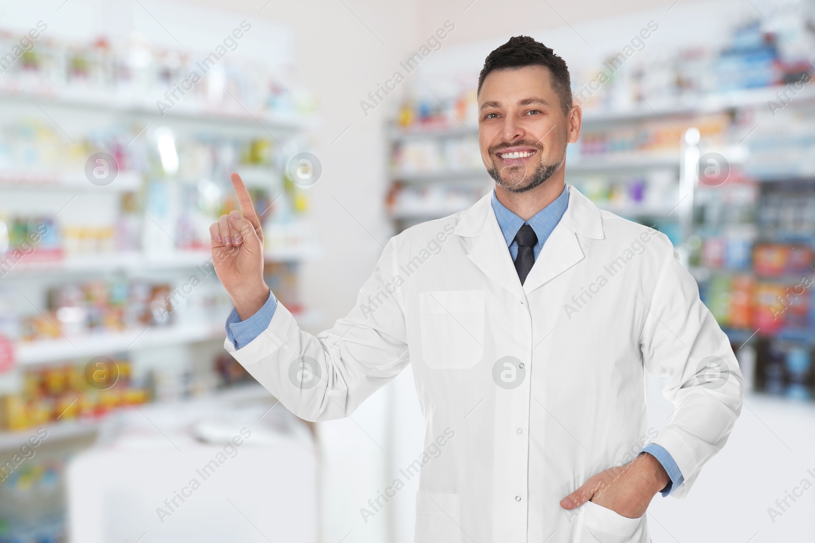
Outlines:
{"label": "man's light blue dress shirt, visible at collar and both cuffs", "polygon": [[[532,248],[535,259],[537,259],[540,249],[544,247],[549,234],[552,234],[552,230],[560,222],[563,213],[566,212],[566,208],[569,206],[569,190],[564,186],[561,195],[551,204],[535,213],[535,216],[531,217],[529,221],[524,221],[521,217],[505,208],[504,204],[498,201],[495,190],[492,190],[491,202],[492,209],[496,213],[496,219],[498,219],[498,226],[500,226],[501,233],[504,234],[504,240],[507,247],[509,247],[509,254],[512,256],[513,261],[518,256],[518,242],[515,241],[515,234],[518,234],[518,230],[525,223],[531,226],[532,230],[535,230],[535,235],[538,236],[538,243],[535,243],[535,247]],[[258,309],[258,313],[253,314],[245,321],[241,321],[238,312],[232,309],[229,317],[227,317],[227,338],[235,345],[236,349],[245,347],[267,329],[271,317],[275,315],[275,309],[277,309],[277,299],[271,293],[271,290],[266,304]],[[654,456],[663,465],[668,477],[671,478],[667,486],[661,491],[663,496],[667,496],[673,488],[682,484],[685,478],[667,450],[654,443],[646,445],[642,450]]]}

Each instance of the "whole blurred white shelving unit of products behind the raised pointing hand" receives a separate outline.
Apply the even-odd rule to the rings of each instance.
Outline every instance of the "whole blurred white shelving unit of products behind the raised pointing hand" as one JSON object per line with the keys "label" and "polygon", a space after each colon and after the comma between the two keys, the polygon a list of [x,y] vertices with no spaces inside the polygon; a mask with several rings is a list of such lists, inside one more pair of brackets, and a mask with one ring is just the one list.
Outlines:
{"label": "whole blurred white shelving unit of products behind the raised pointing hand", "polygon": [[[3,50],[19,40],[0,30]],[[303,326],[319,319],[299,296],[319,255],[310,194],[289,174],[310,148],[311,94],[239,54],[178,90],[209,51],[136,33],[33,41],[0,77],[3,542],[67,535],[64,468],[117,411],[268,397],[222,348],[231,300],[209,225],[239,208],[230,173],[262,221],[267,284]],[[20,496],[42,517],[10,506]]]}

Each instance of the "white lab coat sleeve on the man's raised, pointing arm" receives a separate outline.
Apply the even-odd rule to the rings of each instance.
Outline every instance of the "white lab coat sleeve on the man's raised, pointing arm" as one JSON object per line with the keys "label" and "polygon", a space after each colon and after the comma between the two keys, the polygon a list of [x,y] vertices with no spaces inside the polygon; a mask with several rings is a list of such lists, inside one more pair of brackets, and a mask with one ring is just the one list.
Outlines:
{"label": "white lab coat sleeve on the man's raised, pointing arm", "polygon": [[243,348],[224,348],[293,414],[308,421],[350,416],[410,361],[403,305],[391,283],[390,239],[350,313],[328,331],[302,331],[278,304],[269,326]]}

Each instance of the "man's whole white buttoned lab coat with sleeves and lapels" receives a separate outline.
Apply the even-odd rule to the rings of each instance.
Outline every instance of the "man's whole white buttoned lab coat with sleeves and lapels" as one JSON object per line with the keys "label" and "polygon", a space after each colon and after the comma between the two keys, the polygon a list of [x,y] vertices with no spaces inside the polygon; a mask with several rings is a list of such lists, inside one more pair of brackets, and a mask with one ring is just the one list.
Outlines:
{"label": "man's whole white buttoned lab coat with sleeves and lapels", "polygon": [[[390,239],[331,330],[307,334],[279,304],[250,344],[225,344],[310,421],[353,414],[413,364],[428,454],[393,476],[421,466],[416,543],[647,543],[645,515],[559,501],[647,441],[671,453],[684,497],[738,418],[738,362],[670,241],[568,190],[523,285],[487,194]],[[667,375],[676,405],[659,435],[645,371]]]}

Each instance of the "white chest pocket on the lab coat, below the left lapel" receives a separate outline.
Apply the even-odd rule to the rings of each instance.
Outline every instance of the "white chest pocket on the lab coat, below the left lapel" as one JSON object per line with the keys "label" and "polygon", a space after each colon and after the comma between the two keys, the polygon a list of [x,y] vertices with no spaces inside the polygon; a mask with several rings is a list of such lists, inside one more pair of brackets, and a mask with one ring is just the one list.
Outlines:
{"label": "white chest pocket on the lab coat, below the left lapel", "polygon": [[484,356],[484,291],[419,295],[421,354],[434,370],[465,370]]}

